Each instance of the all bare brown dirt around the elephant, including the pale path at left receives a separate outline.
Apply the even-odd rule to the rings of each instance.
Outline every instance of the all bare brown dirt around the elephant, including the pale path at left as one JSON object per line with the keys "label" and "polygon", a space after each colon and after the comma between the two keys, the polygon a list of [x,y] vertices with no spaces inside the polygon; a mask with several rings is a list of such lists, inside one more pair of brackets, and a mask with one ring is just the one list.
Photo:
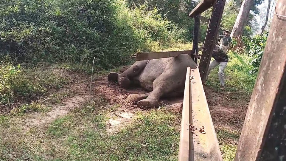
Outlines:
{"label": "all bare brown dirt around the elephant, including the pale path at left", "polygon": [[[61,72],[71,78],[71,83],[63,89],[56,91],[50,89],[50,93],[60,93],[68,91],[72,93],[69,97],[63,99],[61,103],[51,103],[48,98],[42,101],[46,105],[52,106],[51,111],[42,114],[38,112],[30,113],[27,119],[21,121],[22,129],[28,131],[32,127],[43,127],[53,120],[67,114],[74,108],[80,107],[84,101],[89,99],[90,76],[76,72]],[[107,132],[112,134],[118,132],[121,127],[126,126],[135,112],[145,111],[137,108],[136,105],[127,100],[131,93],[143,94],[145,91],[139,87],[122,89],[118,84],[107,81],[106,75],[94,76],[92,83],[91,97],[102,97],[109,105],[116,105],[119,110],[111,112],[111,116],[106,123]],[[227,127],[236,131],[241,131],[244,117],[248,107],[249,98],[245,96],[237,97],[235,92],[216,91],[208,86],[205,87],[206,98],[209,104],[210,113],[215,127]],[[162,99],[159,106],[165,106],[175,113],[181,113],[182,97],[172,99]],[[160,108],[160,107],[159,107]]]}

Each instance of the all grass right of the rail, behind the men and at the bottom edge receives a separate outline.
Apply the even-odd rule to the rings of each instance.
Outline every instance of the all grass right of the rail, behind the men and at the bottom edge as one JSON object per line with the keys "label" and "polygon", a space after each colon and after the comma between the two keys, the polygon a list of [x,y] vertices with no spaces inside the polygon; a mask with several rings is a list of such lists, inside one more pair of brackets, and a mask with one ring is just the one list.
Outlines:
{"label": "all grass right of the rail, behind the men and at the bottom edge", "polygon": [[[250,97],[256,75],[249,75],[249,57],[245,54],[237,54],[229,51],[229,63],[227,64],[226,75],[226,89],[225,92],[237,93],[236,99],[244,99],[245,95]],[[218,79],[218,67],[213,69],[209,75],[206,85],[219,91],[220,82]],[[220,150],[225,161],[232,161],[235,156],[237,142],[239,140],[240,132],[227,128],[216,129],[217,138],[220,144]]]}

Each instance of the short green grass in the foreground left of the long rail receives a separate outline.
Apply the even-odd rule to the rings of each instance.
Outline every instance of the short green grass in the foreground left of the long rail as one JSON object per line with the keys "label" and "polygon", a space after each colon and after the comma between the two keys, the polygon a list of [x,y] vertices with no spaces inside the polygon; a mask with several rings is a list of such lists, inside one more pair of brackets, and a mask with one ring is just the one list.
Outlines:
{"label": "short green grass in the foreground left of the long rail", "polygon": [[[103,101],[102,101],[103,100]],[[46,128],[29,131],[0,124],[4,131],[16,137],[0,139],[0,160],[110,160],[116,157],[106,148],[105,142],[121,160],[177,160],[179,140],[179,114],[167,109],[137,112],[133,121],[119,133],[108,135],[105,122],[108,114],[118,108],[109,106],[104,99],[84,103],[82,108],[57,118]],[[171,148],[172,144],[175,146]]]}

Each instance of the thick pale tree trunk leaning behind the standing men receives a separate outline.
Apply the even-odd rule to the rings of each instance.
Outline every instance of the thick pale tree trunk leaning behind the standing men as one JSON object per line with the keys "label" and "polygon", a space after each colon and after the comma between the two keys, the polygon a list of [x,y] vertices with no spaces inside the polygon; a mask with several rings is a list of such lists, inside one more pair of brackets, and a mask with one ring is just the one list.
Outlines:
{"label": "thick pale tree trunk leaning behind the standing men", "polygon": [[232,38],[237,38],[237,36],[242,35],[251,6],[252,0],[243,0],[230,34]]}

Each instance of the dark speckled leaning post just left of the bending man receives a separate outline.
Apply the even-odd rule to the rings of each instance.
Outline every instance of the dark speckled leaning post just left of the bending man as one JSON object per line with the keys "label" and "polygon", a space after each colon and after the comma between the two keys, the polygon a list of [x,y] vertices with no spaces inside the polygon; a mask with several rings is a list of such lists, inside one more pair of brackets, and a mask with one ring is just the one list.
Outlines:
{"label": "dark speckled leaning post just left of the bending man", "polygon": [[212,58],[212,50],[214,49],[215,39],[217,38],[218,29],[220,28],[225,3],[226,0],[217,0],[212,8],[212,16],[209,20],[209,27],[206,32],[206,39],[203,44],[203,52],[199,64],[200,77],[202,78],[203,84],[206,81],[206,73]]}

